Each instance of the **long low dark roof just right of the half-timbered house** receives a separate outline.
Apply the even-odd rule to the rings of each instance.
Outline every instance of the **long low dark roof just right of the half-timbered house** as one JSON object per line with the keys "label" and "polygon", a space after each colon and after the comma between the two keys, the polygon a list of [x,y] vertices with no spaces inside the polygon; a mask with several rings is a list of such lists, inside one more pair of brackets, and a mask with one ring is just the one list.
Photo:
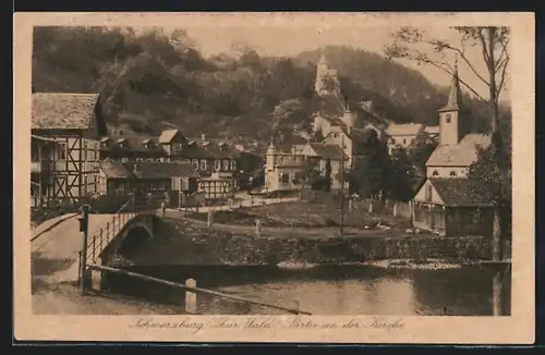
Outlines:
{"label": "long low dark roof just right of the half-timbered house", "polygon": [[137,179],[199,178],[193,166],[185,161],[137,161],[124,164]]}

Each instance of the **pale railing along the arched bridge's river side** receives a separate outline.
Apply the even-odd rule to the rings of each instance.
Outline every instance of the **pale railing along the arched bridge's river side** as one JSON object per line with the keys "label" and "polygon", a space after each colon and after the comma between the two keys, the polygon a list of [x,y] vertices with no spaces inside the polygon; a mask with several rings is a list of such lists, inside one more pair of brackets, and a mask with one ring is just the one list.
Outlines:
{"label": "pale railing along the arched bridge's river side", "polygon": [[87,241],[87,262],[94,262],[102,253],[108,244],[121,232],[125,223],[132,218],[140,215],[155,215],[156,204],[146,201],[144,204],[135,204],[133,199],[126,201],[113,215],[110,221],[106,222],[104,228],[92,235]]}

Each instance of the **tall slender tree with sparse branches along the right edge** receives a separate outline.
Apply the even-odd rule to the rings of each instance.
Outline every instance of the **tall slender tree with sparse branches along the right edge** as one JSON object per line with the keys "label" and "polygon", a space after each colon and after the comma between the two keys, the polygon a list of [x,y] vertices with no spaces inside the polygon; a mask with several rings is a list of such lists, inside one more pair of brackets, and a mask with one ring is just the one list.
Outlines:
{"label": "tall slender tree with sparse branches along the right edge", "polygon": [[[487,152],[479,155],[477,164],[473,167],[473,173],[470,175],[481,180],[482,183],[491,181],[491,179],[499,179],[502,175],[505,179],[499,179],[499,182],[508,183],[510,186],[511,167],[505,164],[505,156],[508,154],[502,145],[505,139],[498,132],[499,126],[499,96],[505,88],[507,79],[507,68],[510,60],[509,40],[510,30],[508,27],[453,27],[460,34],[460,45],[456,46],[452,42],[428,37],[424,30],[414,27],[401,27],[398,32],[392,33],[393,41],[386,46],[385,52],[388,58],[414,60],[419,64],[429,64],[440,69],[449,74],[453,74],[455,69],[445,61],[445,53],[455,53],[460,57],[469,70],[477,77],[479,81],[485,84],[488,88],[488,97],[481,95],[475,87],[469,85],[465,81],[460,79],[471,93],[483,101],[487,101],[491,114],[491,132],[492,145]],[[420,48],[419,48],[420,46]],[[481,51],[482,63],[486,68],[486,73],[480,73],[476,70],[476,63],[472,62],[467,56],[467,49],[470,47],[479,48]],[[427,48],[427,50],[422,50]],[[429,51],[431,49],[431,51]],[[435,53],[433,58],[429,52]],[[438,56],[437,56],[438,54]],[[510,134],[510,132],[508,133]],[[477,175],[482,176],[477,176]],[[498,175],[499,174],[499,175]],[[485,178],[486,176],[486,178]],[[477,184],[479,185],[479,184]],[[484,185],[487,186],[487,185]],[[504,186],[507,188],[507,186]],[[499,241],[501,234],[501,225],[506,224],[500,221],[502,216],[501,205],[505,197],[501,191],[505,188],[495,188],[494,184],[475,193],[492,193],[492,199],[495,204],[494,209],[494,258],[500,257]],[[510,187],[509,187],[510,188]],[[506,217],[504,215],[504,217]],[[496,252],[498,250],[498,252]]]}

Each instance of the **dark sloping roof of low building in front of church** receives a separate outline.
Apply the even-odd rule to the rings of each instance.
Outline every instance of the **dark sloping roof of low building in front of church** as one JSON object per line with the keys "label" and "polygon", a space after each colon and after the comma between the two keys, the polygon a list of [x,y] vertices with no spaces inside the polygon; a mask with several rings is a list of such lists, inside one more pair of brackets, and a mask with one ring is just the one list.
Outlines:
{"label": "dark sloping roof of low building in front of church", "polygon": [[473,179],[429,178],[445,206],[491,206],[492,195]]}

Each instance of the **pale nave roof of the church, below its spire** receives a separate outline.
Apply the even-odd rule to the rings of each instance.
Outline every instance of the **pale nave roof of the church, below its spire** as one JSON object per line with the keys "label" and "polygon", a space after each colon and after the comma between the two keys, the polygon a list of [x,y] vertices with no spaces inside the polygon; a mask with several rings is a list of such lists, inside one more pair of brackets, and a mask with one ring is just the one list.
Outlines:
{"label": "pale nave roof of the church, below its spire", "polygon": [[471,133],[458,144],[438,145],[427,159],[426,167],[469,167],[477,159],[477,147],[492,143],[488,134]]}

